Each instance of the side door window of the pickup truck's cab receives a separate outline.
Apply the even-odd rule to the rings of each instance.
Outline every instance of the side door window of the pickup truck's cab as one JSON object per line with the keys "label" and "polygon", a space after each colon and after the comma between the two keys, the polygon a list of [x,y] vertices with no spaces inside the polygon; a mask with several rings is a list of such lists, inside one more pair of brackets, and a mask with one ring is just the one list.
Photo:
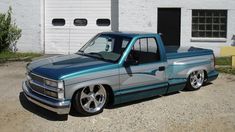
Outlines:
{"label": "side door window of the pickup truck's cab", "polygon": [[128,59],[137,60],[140,64],[160,60],[160,54],[158,52],[158,46],[155,38],[138,39],[132,47]]}

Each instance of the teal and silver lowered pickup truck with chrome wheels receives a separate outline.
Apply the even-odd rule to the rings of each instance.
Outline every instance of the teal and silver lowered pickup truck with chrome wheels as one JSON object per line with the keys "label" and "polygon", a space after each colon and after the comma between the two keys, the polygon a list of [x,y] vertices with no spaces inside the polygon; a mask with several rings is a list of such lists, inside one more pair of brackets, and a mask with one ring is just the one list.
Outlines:
{"label": "teal and silver lowered pickup truck with chrome wheels", "polygon": [[29,63],[23,92],[57,114],[94,115],[107,105],[198,90],[218,77],[212,50],[165,47],[155,33],[102,32],[77,53]]}

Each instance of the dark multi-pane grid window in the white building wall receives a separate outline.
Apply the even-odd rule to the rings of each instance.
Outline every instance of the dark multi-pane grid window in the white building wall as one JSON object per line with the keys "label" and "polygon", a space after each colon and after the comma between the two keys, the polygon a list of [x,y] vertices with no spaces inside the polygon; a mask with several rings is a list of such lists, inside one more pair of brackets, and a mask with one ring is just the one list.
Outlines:
{"label": "dark multi-pane grid window in the white building wall", "polygon": [[226,38],[227,10],[192,10],[192,37]]}

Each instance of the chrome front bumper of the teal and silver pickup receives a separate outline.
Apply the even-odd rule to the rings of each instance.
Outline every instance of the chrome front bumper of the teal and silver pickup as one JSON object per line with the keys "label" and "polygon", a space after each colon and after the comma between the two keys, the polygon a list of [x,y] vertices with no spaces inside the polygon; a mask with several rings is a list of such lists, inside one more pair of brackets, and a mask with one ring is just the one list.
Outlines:
{"label": "chrome front bumper of the teal and silver pickup", "polygon": [[68,114],[70,111],[71,101],[70,100],[54,100],[42,95],[36,94],[31,91],[26,82],[22,83],[22,89],[26,98],[47,110],[56,112],[57,114]]}

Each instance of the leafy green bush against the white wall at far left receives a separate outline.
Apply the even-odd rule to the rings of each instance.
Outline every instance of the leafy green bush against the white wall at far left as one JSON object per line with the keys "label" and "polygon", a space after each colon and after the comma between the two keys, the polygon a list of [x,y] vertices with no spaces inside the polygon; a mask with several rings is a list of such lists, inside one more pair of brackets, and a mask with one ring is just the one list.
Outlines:
{"label": "leafy green bush against the white wall at far left", "polygon": [[0,13],[0,52],[8,50],[11,44],[16,44],[21,37],[21,29],[12,21],[12,9]]}

